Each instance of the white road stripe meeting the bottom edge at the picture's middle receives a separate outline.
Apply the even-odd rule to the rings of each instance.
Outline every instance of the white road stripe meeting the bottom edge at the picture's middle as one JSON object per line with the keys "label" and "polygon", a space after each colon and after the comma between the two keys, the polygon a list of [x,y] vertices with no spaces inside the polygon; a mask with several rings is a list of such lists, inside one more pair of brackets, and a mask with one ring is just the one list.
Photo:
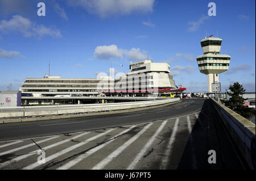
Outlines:
{"label": "white road stripe meeting the bottom edge at the picture's middle", "polygon": [[162,131],[164,125],[166,125],[167,120],[163,121],[163,123],[160,125],[160,127],[156,130],[156,132],[154,133],[154,135],[150,138],[150,140],[148,140],[147,144],[144,146],[144,148],[141,150],[141,152],[139,152],[139,154],[137,155],[137,157],[133,160],[133,162],[131,162],[131,164],[129,165],[129,167],[127,167],[127,170],[133,170],[134,167],[137,165],[137,163],[139,161],[141,161],[141,158],[143,156],[143,154],[147,151],[147,149],[151,146],[152,142],[155,141],[156,136],[158,136],[158,134]]}

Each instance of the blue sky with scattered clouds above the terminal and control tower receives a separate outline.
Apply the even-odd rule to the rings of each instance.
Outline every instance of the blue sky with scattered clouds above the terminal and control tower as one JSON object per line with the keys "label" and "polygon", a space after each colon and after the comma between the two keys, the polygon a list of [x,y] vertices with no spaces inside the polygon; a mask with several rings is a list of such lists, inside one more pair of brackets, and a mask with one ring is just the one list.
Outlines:
{"label": "blue sky with scattered clouds above the terminal and control tower", "polygon": [[[38,15],[39,2],[45,16]],[[208,14],[210,2],[216,16]],[[220,37],[221,53],[231,56],[229,70],[219,75],[221,91],[240,82],[255,92],[254,0],[0,0],[0,90],[42,78],[49,62],[50,75],[96,78],[109,74],[111,62],[116,73],[126,73],[130,62],[148,54],[170,64],[186,92],[207,92],[196,57],[210,35]]]}

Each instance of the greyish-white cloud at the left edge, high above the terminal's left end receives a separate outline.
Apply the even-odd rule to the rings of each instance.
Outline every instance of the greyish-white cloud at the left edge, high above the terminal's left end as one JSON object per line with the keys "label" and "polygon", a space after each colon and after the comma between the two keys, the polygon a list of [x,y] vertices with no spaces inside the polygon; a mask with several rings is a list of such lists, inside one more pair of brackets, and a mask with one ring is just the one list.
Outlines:
{"label": "greyish-white cloud at the left edge, high above the terminal's left end", "polygon": [[49,35],[53,37],[61,37],[60,30],[56,28],[47,28],[43,24],[32,23],[29,19],[24,18],[20,15],[14,15],[13,18],[8,20],[0,21],[0,31],[9,32],[19,32],[22,33],[24,37],[38,36],[42,37],[44,35]]}

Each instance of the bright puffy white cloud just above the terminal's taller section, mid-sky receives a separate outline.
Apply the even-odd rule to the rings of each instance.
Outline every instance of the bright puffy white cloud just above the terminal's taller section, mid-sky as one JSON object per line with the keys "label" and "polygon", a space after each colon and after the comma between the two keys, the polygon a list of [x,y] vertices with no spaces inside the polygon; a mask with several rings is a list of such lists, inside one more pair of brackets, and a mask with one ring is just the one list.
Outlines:
{"label": "bright puffy white cloud just above the terminal's taller section, mid-sky", "polygon": [[146,54],[142,53],[139,48],[126,50],[118,48],[117,45],[104,45],[98,46],[94,50],[94,57],[98,59],[118,58],[122,60],[123,56],[129,58],[129,60],[145,60],[147,58]]}

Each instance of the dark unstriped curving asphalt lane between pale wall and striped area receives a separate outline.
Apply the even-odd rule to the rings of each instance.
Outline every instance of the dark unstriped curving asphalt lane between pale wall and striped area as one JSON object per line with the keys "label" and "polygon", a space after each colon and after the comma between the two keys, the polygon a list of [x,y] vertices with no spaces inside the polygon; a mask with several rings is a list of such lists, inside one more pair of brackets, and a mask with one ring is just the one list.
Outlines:
{"label": "dark unstriped curving asphalt lane between pale wall and striped area", "polygon": [[199,112],[203,103],[204,99],[183,99],[181,103],[146,111],[62,120],[1,124],[0,141],[67,134],[170,119]]}

